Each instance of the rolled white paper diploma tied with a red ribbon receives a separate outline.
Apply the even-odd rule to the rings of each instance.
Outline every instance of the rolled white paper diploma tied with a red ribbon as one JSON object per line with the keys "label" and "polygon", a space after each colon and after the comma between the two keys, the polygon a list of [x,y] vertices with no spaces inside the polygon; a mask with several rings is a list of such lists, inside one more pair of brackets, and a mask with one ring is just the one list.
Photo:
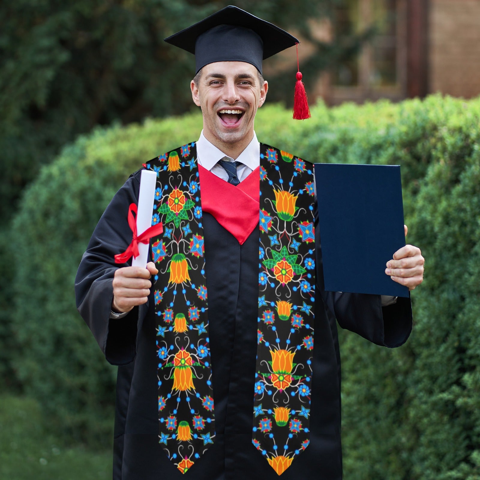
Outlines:
{"label": "rolled white paper diploma tied with a red ribbon", "polygon": [[[155,200],[156,172],[142,170],[140,176],[140,193],[138,195],[137,233],[140,235],[152,226],[153,204]],[[146,268],[148,260],[148,243],[139,243],[137,258],[132,257],[132,267]]]}

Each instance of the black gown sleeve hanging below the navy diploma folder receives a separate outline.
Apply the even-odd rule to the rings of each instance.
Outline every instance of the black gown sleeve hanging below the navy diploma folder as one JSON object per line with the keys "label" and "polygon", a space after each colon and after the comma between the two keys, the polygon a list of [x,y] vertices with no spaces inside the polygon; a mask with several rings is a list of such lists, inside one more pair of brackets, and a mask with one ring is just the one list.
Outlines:
{"label": "black gown sleeve hanging below the navy diploma folder", "polygon": [[[394,348],[405,343],[412,330],[410,298],[398,297],[393,305],[382,307],[380,295],[325,291],[320,240],[315,208],[317,286],[325,307],[336,317],[338,324],[384,347]],[[345,272],[345,275],[348,275],[348,272]]]}

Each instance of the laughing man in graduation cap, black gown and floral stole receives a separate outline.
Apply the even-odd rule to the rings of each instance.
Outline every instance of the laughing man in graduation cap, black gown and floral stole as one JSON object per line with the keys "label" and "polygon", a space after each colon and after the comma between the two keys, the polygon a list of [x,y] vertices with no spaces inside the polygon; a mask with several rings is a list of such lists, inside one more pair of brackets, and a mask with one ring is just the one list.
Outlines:
{"label": "laughing man in graduation cap, black gown and floral stole", "polygon": [[[136,172],[76,279],[79,311],[119,365],[114,478],[340,479],[335,317],[396,347],[410,300],[324,291],[312,166],[256,139],[262,58],[297,40],[227,7],[168,41],[195,52],[204,128],[146,165],[158,176],[152,223],[163,225],[153,262],[114,263],[132,240]],[[418,248],[385,261],[393,280],[422,281]]]}

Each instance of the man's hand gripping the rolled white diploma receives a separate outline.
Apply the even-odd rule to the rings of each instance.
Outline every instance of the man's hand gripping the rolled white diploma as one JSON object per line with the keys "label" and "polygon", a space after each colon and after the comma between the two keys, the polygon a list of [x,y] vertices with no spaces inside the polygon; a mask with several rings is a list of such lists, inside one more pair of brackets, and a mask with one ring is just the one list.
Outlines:
{"label": "man's hand gripping the rolled white diploma", "polygon": [[150,277],[158,270],[153,262],[146,268],[123,267],[113,277],[112,310],[117,313],[130,312],[133,307],[147,302],[152,282]]}

